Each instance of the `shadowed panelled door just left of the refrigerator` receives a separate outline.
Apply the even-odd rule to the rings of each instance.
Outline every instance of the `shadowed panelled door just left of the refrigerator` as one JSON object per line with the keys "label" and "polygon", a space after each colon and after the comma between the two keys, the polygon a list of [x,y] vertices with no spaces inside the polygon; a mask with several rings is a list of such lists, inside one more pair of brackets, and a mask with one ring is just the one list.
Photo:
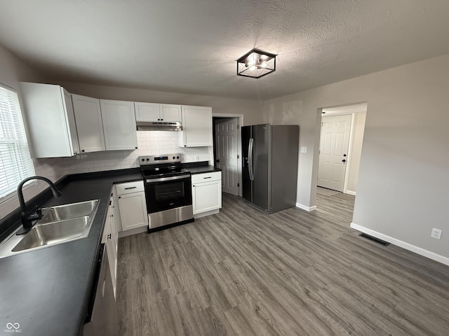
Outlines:
{"label": "shadowed panelled door just left of the refrigerator", "polygon": [[239,195],[237,118],[215,119],[215,167],[222,169],[222,191]]}

